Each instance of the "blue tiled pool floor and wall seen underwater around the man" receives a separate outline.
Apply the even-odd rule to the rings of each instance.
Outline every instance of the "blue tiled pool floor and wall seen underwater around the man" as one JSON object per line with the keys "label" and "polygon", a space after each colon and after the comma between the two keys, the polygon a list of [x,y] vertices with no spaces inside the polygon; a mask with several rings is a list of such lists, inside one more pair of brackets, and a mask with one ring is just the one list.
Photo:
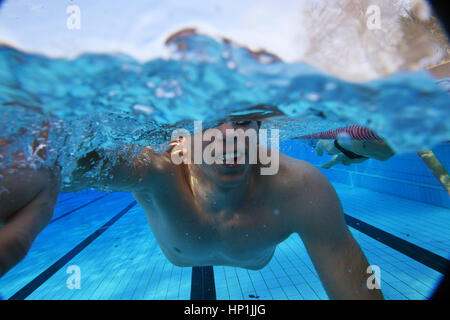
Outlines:
{"label": "blue tiled pool floor and wall seen underwater around the man", "polygon": [[[327,160],[299,141],[284,142],[281,151],[315,165]],[[450,165],[450,144],[433,151]],[[429,298],[448,263],[450,201],[422,160],[403,154],[322,172],[369,263],[380,267],[385,298]],[[69,289],[69,266],[79,268],[79,289]],[[177,267],[161,252],[130,193],[93,190],[60,194],[52,222],[0,279],[0,294],[31,300],[328,299],[296,234],[279,244],[261,270]]]}

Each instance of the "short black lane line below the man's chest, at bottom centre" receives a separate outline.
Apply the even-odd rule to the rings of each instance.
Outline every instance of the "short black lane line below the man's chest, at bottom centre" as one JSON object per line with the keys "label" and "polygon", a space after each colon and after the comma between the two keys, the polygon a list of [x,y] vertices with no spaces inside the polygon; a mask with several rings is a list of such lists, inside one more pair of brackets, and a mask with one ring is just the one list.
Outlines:
{"label": "short black lane line below the man's chest, at bottom centre", "polygon": [[212,266],[192,268],[191,300],[216,300]]}

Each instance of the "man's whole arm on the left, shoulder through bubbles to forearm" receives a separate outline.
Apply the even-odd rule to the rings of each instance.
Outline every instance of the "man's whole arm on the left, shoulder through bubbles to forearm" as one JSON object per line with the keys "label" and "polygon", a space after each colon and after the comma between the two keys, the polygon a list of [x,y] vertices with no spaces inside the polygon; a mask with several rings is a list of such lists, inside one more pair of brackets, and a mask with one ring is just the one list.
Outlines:
{"label": "man's whole arm on the left, shoulder through bubbles to forearm", "polygon": [[[46,159],[45,141],[49,129],[49,124],[44,122],[40,133],[44,142],[37,143],[36,139],[32,146],[35,156],[43,161]],[[0,139],[0,155],[5,157],[8,149],[6,140]],[[105,189],[105,186],[113,191],[138,188],[146,182],[153,152],[148,147],[144,148],[139,157],[131,161],[127,159],[126,150],[117,151],[118,161],[114,164],[109,162],[109,158],[101,161],[100,171],[107,175],[100,177],[90,174],[90,170],[99,165],[102,160],[100,154],[104,152],[89,153],[79,160],[73,184],[64,191]],[[61,186],[61,168],[34,169],[24,152],[17,152],[12,157],[12,165],[0,170],[0,277],[25,257],[37,235],[51,221]],[[153,162],[158,163],[157,160]]]}

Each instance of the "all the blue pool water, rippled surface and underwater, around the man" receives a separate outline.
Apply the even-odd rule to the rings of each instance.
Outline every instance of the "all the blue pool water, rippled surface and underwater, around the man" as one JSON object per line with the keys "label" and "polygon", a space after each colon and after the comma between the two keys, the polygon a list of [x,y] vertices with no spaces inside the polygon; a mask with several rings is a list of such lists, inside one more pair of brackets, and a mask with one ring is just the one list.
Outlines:
{"label": "all the blue pool water, rippled surface and underwater, around the man", "polygon": [[[320,168],[330,157],[296,138],[364,126],[396,155],[321,170],[356,241],[381,270],[385,298],[430,297],[448,265],[450,197],[415,152],[432,149],[450,168],[449,79],[417,71],[352,82],[186,30],[166,44],[167,56],[148,61],[122,53],[51,58],[0,44],[0,169],[20,150],[24,165],[59,165],[68,186],[77,160],[93,150],[132,144],[131,161],[145,146],[167,150],[175,128],[192,133],[192,120],[207,129],[241,118],[264,118],[262,128],[280,130],[281,152]],[[46,159],[36,157],[35,142],[45,143]],[[0,192],[8,192],[1,179]],[[0,278],[0,297],[328,299],[297,234],[261,270],[177,267],[131,193],[106,189],[59,195],[53,220]]]}

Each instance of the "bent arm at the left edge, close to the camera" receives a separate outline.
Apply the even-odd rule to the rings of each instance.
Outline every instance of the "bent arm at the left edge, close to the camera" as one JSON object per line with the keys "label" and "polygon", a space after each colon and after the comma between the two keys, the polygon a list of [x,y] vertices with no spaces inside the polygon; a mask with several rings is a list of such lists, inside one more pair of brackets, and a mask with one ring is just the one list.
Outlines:
{"label": "bent arm at the left edge, close to the camera", "polygon": [[[40,138],[48,137],[44,122]],[[0,155],[6,157],[9,146],[0,139]],[[35,159],[47,157],[45,142],[32,145]],[[0,277],[22,260],[31,244],[53,216],[60,188],[60,168],[34,169],[23,152],[11,155],[13,163],[0,170]]]}

